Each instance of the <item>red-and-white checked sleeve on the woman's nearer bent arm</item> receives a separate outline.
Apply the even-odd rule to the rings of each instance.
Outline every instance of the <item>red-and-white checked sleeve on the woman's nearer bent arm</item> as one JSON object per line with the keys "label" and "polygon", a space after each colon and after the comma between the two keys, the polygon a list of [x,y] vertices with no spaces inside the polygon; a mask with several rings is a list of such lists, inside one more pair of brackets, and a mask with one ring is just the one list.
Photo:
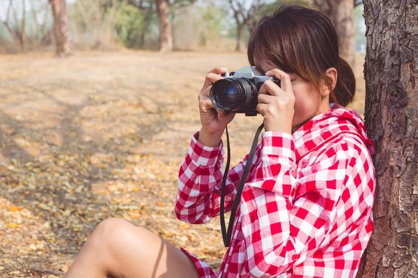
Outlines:
{"label": "red-and-white checked sleeve on the woman's nearer bent arm", "polygon": [[[256,179],[246,183],[240,205],[245,272],[276,277],[318,249],[332,229],[336,203],[350,180],[351,151],[333,144],[298,172],[292,136],[263,133]],[[294,199],[299,186],[306,193]]]}

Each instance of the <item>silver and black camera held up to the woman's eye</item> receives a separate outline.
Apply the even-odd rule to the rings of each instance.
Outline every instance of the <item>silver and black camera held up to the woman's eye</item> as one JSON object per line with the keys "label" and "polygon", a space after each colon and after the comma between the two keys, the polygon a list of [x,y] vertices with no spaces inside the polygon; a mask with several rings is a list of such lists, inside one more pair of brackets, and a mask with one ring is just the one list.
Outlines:
{"label": "silver and black camera held up to the woman's eye", "polygon": [[221,111],[245,113],[246,116],[258,114],[258,90],[264,81],[272,80],[280,86],[280,80],[265,76],[256,67],[241,67],[236,72],[222,74],[225,79],[213,83],[210,89],[210,100],[213,106]]}

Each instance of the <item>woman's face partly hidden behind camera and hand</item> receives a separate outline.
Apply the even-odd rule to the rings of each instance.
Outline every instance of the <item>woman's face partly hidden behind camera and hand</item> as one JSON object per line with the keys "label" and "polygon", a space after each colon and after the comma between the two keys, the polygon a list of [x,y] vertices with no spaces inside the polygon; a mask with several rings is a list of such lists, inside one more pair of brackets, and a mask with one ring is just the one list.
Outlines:
{"label": "woman's face partly hidden behind camera and hand", "polygon": [[[256,69],[263,74],[274,68],[279,68],[276,65],[257,59],[254,59],[254,64]],[[330,103],[329,96],[321,96],[312,83],[296,74],[288,74],[291,76],[293,94],[295,94],[295,115],[293,116],[292,126],[293,131],[296,131],[311,118],[330,110]]]}

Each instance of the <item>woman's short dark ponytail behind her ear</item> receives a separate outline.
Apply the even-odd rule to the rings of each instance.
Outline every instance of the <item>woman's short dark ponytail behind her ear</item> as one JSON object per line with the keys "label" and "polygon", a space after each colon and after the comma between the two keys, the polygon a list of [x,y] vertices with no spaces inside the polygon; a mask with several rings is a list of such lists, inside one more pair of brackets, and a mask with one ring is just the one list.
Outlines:
{"label": "woman's short dark ponytail behind her ear", "polygon": [[341,106],[347,106],[354,99],[355,76],[350,65],[341,57],[339,58],[336,71],[338,72],[338,78],[336,79],[336,86],[330,101],[335,101]]}

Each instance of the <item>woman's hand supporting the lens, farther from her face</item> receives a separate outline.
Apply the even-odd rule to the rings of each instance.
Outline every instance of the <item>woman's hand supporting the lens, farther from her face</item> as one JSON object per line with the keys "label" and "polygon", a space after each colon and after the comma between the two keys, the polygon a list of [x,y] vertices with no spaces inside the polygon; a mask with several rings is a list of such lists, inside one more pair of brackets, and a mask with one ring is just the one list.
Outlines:
{"label": "woman's hand supporting the lens, farther from her face", "polygon": [[210,101],[210,89],[212,84],[224,77],[219,74],[224,74],[228,69],[225,67],[215,67],[206,75],[205,83],[199,93],[199,112],[201,117],[202,128],[199,133],[198,141],[208,147],[217,147],[221,140],[222,134],[227,124],[229,124],[235,113],[225,113],[215,109]]}

